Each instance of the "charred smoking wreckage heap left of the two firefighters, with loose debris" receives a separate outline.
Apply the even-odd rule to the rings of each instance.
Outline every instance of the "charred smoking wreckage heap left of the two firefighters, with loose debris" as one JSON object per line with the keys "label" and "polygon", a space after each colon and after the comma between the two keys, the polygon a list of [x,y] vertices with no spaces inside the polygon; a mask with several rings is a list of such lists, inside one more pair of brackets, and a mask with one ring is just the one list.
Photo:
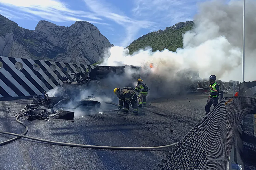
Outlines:
{"label": "charred smoking wreckage heap left of the two firefighters, with loose debris", "polygon": [[[48,120],[49,118],[74,120],[74,110],[82,110],[88,112],[110,112],[118,111],[118,109],[100,110],[101,103],[94,99],[94,94],[81,100],[76,100],[77,95],[83,93],[86,89],[91,92],[97,92],[98,95],[105,93],[101,90],[100,80],[108,75],[120,75],[124,73],[125,66],[90,66],[88,72],[72,73],[74,77],[68,79],[62,77],[62,86],[58,87],[58,92],[55,97],[49,97],[44,91],[42,95],[33,96],[33,103],[27,105],[18,114],[26,112],[21,118],[27,120]],[[105,102],[112,106],[118,104]],[[72,106],[72,107],[68,107]]]}

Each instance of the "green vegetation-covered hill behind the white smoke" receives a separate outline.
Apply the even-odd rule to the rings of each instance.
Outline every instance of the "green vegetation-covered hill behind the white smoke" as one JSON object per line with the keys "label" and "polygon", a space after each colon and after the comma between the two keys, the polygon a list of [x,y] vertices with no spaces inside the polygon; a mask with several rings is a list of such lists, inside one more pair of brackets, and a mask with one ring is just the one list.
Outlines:
{"label": "green vegetation-covered hill behind the white smoke", "polygon": [[183,46],[182,34],[189,31],[193,27],[193,21],[179,22],[165,30],[150,32],[137,40],[133,41],[128,47],[130,54],[139,49],[151,47],[153,51],[168,49],[176,51],[177,48]]}

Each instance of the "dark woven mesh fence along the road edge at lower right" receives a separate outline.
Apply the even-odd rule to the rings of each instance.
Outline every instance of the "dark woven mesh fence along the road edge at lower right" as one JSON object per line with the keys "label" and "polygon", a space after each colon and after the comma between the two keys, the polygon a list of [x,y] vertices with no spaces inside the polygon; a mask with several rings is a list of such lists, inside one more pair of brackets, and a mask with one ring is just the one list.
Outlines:
{"label": "dark woven mesh fence along the road edge at lower right", "polygon": [[256,98],[239,84],[239,96],[223,98],[166,155],[157,169],[161,170],[227,170],[234,135],[247,114],[256,113]]}

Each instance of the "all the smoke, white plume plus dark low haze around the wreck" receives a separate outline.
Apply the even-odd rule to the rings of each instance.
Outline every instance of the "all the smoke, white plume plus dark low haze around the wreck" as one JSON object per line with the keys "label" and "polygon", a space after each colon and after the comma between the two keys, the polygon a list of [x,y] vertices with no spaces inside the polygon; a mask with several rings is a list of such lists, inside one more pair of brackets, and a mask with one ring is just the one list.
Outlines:
{"label": "all the smoke, white plume plus dark low haze around the wreck", "polygon": [[[255,7],[255,1],[246,1],[245,80],[255,80]],[[242,24],[242,0],[231,0],[229,3],[218,0],[204,2],[199,5],[199,12],[194,16],[193,29],[183,35],[183,48],[176,52],[167,49],[152,52],[147,47],[129,55],[128,49],[114,46],[106,51],[101,66],[141,66],[141,78],[150,88],[148,98],[184,92],[181,84],[186,82],[176,73],[191,67],[199,71],[201,78],[214,74],[221,81],[241,81]],[[137,78],[133,74],[138,72],[127,68],[125,71],[124,75],[112,75],[100,80],[104,95],[95,93],[98,101],[117,103],[118,98],[113,94],[114,88],[136,86]],[[88,89],[76,100],[87,98],[92,93],[94,92]]]}

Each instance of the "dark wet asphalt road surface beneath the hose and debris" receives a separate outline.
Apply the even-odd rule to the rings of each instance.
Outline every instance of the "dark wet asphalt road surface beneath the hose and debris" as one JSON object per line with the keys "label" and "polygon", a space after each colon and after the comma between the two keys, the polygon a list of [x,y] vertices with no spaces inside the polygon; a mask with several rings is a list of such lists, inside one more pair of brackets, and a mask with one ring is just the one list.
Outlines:
{"label": "dark wet asphalt road surface beneath the hose and debris", "polygon": [[[138,115],[132,111],[94,115],[80,112],[74,122],[21,120],[29,127],[27,136],[41,139],[102,146],[161,146],[180,141],[201,120],[207,97],[208,94],[196,93],[149,99]],[[15,121],[14,114],[31,102],[31,99],[0,101],[0,130],[22,133],[24,127]],[[0,135],[0,141],[10,138],[12,136]],[[160,151],[100,150],[50,145],[22,138],[0,147],[0,150],[0,165],[4,170],[148,170],[156,168],[171,148]]]}

